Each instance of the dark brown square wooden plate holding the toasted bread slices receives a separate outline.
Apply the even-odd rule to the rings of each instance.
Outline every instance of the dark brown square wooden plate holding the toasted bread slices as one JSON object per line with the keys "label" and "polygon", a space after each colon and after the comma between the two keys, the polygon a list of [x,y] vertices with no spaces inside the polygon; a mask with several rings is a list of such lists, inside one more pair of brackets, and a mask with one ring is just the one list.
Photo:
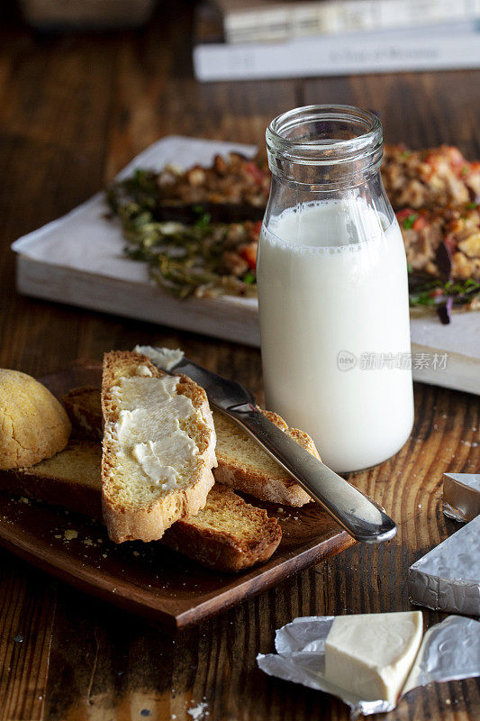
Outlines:
{"label": "dark brown square wooden plate holding the toasted bread slices", "polygon": [[[100,377],[100,366],[80,363],[41,382],[61,397],[70,388],[99,385]],[[111,543],[97,521],[7,493],[0,493],[0,544],[77,589],[182,628],[355,543],[314,504],[253,502],[278,516],[284,535],[267,563],[239,574],[206,570],[160,543]]]}

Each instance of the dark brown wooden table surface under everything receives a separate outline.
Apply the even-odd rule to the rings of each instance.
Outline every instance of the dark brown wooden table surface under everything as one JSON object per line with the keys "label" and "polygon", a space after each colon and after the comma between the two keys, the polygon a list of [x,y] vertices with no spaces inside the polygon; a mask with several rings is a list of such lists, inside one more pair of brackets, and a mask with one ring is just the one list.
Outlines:
{"label": "dark brown wooden table surface under everything", "polygon": [[[86,200],[169,133],[261,142],[276,114],[310,103],[375,109],[387,141],[456,143],[480,157],[480,72],[270,82],[195,82],[189,5],[141,32],[44,37],[10,17],[0,29],[0,367],[41,376],[110,349],[178,343],[262,394],[259,352],[16,295],[9,243]],[[258,671],[295,616],[410,608],[407,569],[457,526],[442,473],[480,467],[479,399],[418,385],[412,437],[391,461],[352,477],[394,516],[380,548],[354,547],[183,634],[168,635],[0,551],[0,721],[347,719],[335,698]],[[442,614],[424,611],[426,625]],[[473,721],[478,680],[413,691],[388,718]]]}

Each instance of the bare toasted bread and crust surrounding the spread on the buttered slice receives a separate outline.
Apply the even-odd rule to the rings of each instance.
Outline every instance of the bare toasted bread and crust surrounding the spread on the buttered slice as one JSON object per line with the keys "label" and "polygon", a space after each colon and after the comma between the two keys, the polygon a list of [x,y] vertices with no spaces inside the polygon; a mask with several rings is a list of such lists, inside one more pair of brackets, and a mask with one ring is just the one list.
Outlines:
{"label": "bare toasted bread and crust surrounding the spread on the buttered slice", "polygon": [[138,366],[146,366],[153,378],[167,375],[158,370],[149,358],[131,351],[112,351],[104,355],[104,373],[102,379],[102,411],[104,415],[104,440],[102,453],[102,509],[104,523],[114,543],[124,541],[156,541],[162,537],[166,529],[178,519],[186,515],[195,515],[204,507],[206,497],[212,488],[214,479],[212,467],[215,459],[215,432],[213,418],[203,388],[187,379],[180,377],[177,391],[190,397],[195,409],[204,420],[205,430],[201,443],[197,443],[199,451],[196,458],[199,470],[195,480],[188,488],[172,491],[160,497],[146,507],[131,508],[119,503],[112,492],[110,478],[114,473],[115,449],[112,436],[113,424],[117,414],[113,408],[110,390],[118,379],[135,376]]}

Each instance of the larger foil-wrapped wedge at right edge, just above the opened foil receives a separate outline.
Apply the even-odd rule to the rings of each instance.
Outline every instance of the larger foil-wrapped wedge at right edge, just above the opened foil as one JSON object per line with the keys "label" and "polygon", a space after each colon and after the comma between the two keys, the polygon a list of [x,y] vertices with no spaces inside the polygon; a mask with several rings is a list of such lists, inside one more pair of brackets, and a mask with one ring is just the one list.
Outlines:
{"label": "larger foil-wrapped wedge at right edge, just above the opened foil", "polygon": [[408,592],[417,606],[480,616],[480,516],[412,564]]}

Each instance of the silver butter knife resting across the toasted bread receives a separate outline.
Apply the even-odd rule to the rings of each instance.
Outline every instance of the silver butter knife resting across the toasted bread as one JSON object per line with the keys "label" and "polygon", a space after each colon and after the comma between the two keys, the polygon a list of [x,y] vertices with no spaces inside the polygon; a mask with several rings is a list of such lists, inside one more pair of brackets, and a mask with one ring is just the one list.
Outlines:
{"label": "silver butter knife resting across the toasted bread", "polygon": [[[139,347],[140,352],[146,352],[144,348]],[[151,360],[155,363],[155,357]],[[183,373],[202,386],[211,405],[251,435],[357,541],[382,543],[394,537],[396,525],[384,509],[269,421],[259,412],[253,394],[240,383],[222,378],[185,357],[162,370]]]}

